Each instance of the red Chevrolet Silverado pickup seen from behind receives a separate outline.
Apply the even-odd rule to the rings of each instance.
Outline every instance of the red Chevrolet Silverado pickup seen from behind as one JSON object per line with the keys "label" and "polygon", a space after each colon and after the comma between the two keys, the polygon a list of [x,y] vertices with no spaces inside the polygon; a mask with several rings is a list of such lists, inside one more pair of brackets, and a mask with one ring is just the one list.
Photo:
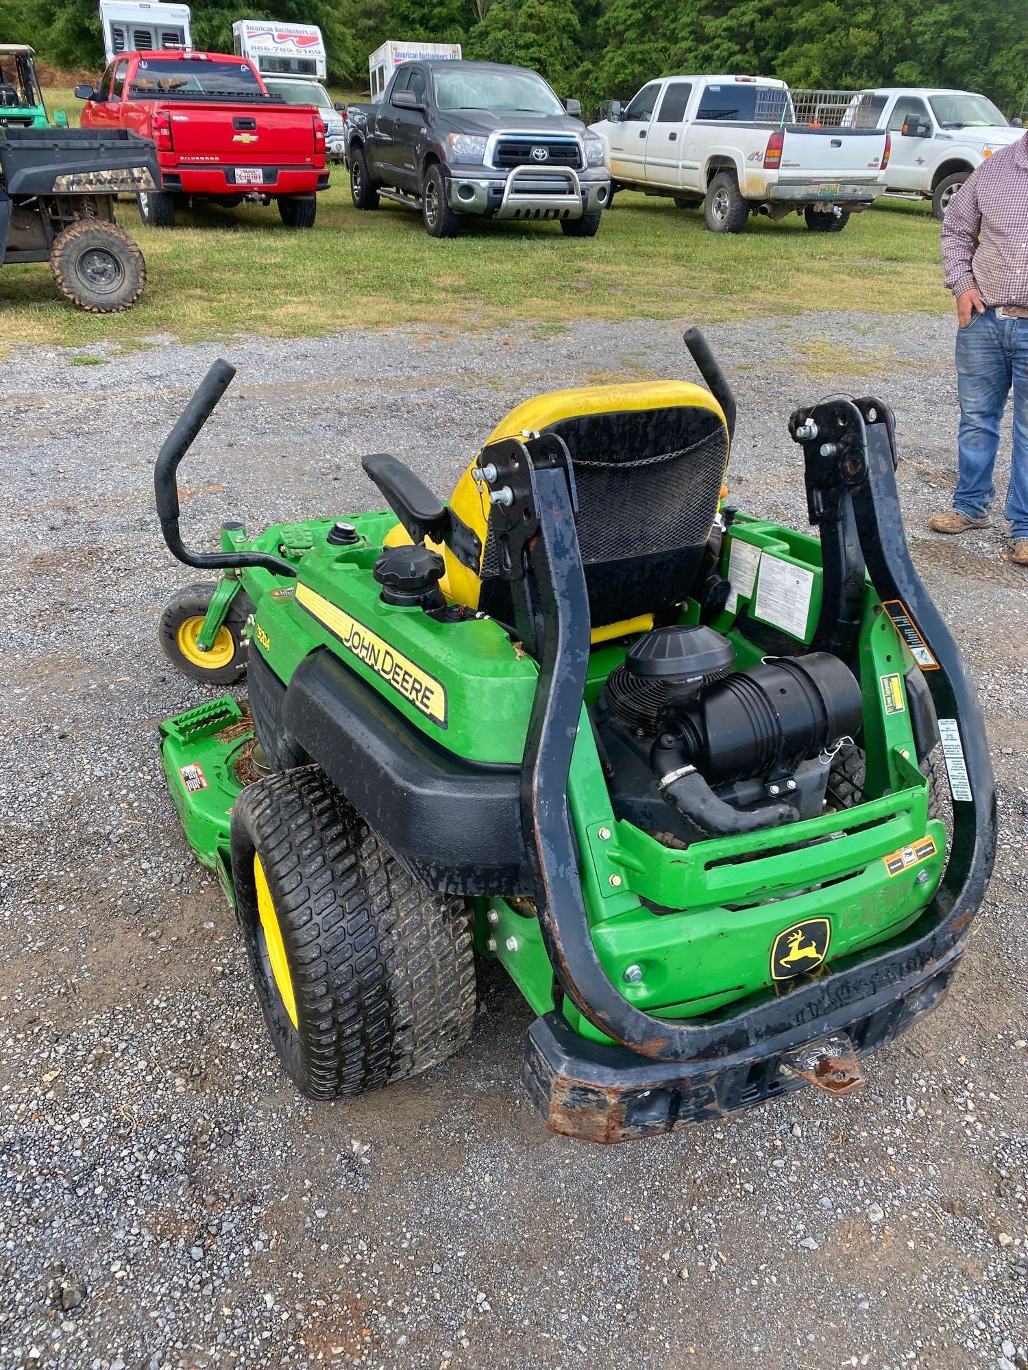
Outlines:
{"label": "red Chevrolet Silverado pickup seen from behind", "polygon": [[100,89],[75,86],[82,127],[132,129],[158,149],[160,189],[138,196],[144,223],[171,227],[192,199],[278,201],[282,223],[310,229],[329,184],[325,125],[313,107],[269,95],[245,58],[123,52]]}

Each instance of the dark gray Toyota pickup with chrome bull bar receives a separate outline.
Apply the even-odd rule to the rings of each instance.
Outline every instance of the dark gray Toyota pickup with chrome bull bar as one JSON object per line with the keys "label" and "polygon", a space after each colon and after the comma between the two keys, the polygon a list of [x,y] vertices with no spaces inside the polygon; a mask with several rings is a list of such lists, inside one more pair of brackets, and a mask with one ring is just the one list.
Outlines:
{"label": "dark gray Toyota pickup with chrome bull bar", "polygon": [[376,104],[347,107],[354,204],[407,204],[435,238],[454,237],[465,214],[556,219],[591,238],[610,173],[603,140],[578,114],[526,67],[404,62]]}

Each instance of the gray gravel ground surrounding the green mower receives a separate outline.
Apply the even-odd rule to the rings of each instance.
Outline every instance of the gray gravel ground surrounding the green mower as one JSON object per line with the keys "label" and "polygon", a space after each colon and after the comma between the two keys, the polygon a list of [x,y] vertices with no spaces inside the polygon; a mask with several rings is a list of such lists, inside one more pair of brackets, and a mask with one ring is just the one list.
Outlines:
{"label": "gray gravel ground surrounding the green mower", "polygon": [[[943,1007],[848,1100],[673,1137],[548,1134],[518,1085],[529,1011],[487,974],[472,1044],[313,1106],[271,1056],[221,893],[191,859],[156,722],[200,686],[159,653],[188,575],[155,452],[223,351],[240,369],[184,467],[184,522],[378,504],[392,451],[445,492],[554,384],[689,374],[666,323],[156,340],[4,362],[0,466],[0,1367],[996,1366],[1025,1370],[1028,636],[1003,526],[943,541],[946,319],[711,329],[739,388],[733,499],[800,525],[791,408],[898,415],[907,532],[977,680],[996,874]],[[1002,477],[1005,485],[1005,475]]]}

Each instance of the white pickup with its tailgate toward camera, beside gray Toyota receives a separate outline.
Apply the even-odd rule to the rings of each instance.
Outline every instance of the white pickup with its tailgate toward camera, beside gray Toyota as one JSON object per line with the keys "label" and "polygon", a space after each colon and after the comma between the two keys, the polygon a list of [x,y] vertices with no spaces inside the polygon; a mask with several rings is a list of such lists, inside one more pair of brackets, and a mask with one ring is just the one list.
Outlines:
{"label": "white pickup with its tailgate toward camera, beside gray Toyota", "polygon": [[740,233],[751,212],[837,233],[884,190],[890,138],[862,126],[859,96],[814,95],[800,110],[784,81],[665,77],[624,110],[609,101],[592,130],[615,188],[702,204],[714,233]]}

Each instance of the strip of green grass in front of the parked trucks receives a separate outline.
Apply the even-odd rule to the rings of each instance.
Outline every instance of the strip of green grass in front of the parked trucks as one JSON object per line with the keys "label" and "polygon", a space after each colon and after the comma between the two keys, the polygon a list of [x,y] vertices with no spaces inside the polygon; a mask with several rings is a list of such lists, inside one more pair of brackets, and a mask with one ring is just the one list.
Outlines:
{"label": "strip of green grass in front of the parked trucks", "polygon": [[[77,115],[70,92],[52,108]],[[145,229],[130,201],[122,226],[147,258],[149,281],[127,314],[79,314],[45,266],[4,267],[0,333],[8,344],[122,345],[156,333],[184,340],[240,332],[310,337],[347,326],[535,325],[539,336],[574,319],[674,318],[717,322],[805,310],[940,311],[939,225],[924,206],[884,201],[839,234],[802,219],[751,219],[720,236],[698,211],[618,195],[591,240],[556,225],[469,221],[455,240],[429,238],[410,210],[382,201],[358,212],[345,171],[332,171],[318,222],[291,233],[274,207],[214,206],[171,230]],[[811,358],[811,362],[816,362]]]}

